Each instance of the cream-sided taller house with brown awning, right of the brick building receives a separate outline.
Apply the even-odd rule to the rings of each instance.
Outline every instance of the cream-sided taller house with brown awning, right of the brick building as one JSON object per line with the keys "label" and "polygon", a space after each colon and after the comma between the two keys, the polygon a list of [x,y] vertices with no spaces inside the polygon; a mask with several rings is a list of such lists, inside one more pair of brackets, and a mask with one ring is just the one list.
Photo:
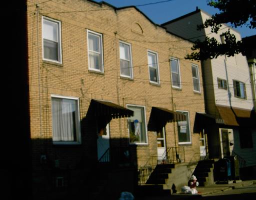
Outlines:
{"label": "cream-sided taller house with brown awning, right of the brick building", "polygon": [[[219,33],[211,33],[210,27],[197,30],[210,15],[196,9],[193,12],[170,20],[162,25],[167,31],[180,35],[191,41],[203,40],[205,36],[215,37],[224,42],[221,30],[228,28],[237,40],[241,40],[239,32],[226,24],[222,24]],[[216,118],[216,122],[207,134],[209,156],[221,158],[237,155],[245,166],[256,165],[256,129],[253,110],[249,68],[246,57],[235,54],[202,61],[203,83],[205,93],[205,109]],[[240,167],[244,165],[240,164]]]}

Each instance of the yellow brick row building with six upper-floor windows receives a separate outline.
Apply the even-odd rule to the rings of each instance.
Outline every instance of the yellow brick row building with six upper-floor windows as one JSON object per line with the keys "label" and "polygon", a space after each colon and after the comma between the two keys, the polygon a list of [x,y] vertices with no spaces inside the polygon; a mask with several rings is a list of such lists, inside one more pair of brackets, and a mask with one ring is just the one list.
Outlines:
{"label": "yellow brick row building with six upper-floor windows", "polygon": [[36,199],[117,198],[157,162],[185,167],[176,176],[186,184],[205,148],[201,65],[183,59],[193,43],[133,6],[36,3],[27,0]]}

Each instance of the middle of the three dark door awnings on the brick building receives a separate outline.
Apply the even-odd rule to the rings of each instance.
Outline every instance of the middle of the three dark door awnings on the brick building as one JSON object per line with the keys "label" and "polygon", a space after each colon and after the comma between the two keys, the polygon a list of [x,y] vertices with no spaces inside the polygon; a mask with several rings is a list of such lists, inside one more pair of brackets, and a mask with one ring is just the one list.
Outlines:
{"label": "middle of the three dark door awnings on the brick building", "polygon": [[185,120],[186,116],[184,114],[162,107],[152,107],[147,129],[149,131],[159,131],[167,122]]}

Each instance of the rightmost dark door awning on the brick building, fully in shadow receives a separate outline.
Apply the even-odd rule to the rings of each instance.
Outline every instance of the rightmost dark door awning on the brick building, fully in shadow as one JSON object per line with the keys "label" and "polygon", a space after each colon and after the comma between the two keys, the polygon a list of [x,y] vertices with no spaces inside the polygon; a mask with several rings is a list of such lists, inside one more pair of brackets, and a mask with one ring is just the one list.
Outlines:
{"label": "rightmost dark door awning on the brick building, fully in shadow", "polygon": [[204,112],[196,112],[194,119],[194,129],[193,132],[199,132],[202,129],[210,127],[215,123],[215,117],[204,113]]}

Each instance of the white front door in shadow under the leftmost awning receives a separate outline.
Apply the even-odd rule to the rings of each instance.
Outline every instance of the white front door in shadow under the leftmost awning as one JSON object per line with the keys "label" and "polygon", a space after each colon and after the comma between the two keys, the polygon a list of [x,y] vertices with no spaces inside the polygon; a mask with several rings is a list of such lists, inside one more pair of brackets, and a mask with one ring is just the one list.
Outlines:
{"label": "white front door in shadow under the leftmost awning", "polygon": [[[104,128],[102,135],[98,134],[97,138],[97,156],[98,159],[106,152],[109,148],[109,123]],[[107,155],[107,159],[105,161],[109,161],[109,154]]]}

